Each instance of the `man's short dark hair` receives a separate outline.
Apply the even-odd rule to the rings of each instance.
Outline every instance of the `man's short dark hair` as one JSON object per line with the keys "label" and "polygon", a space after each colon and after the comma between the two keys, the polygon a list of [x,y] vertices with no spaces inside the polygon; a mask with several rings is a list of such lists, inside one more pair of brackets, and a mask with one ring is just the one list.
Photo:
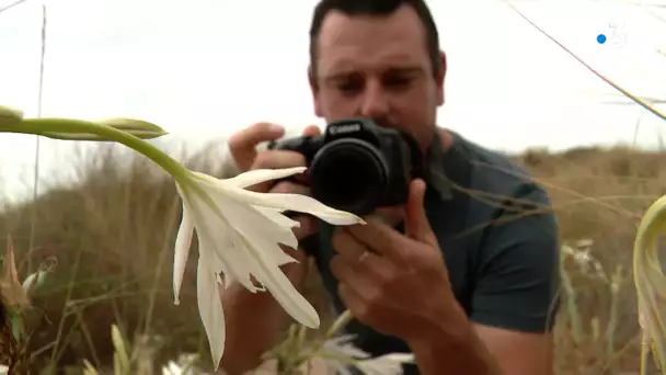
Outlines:
{"label": "man's short dark hair", "polygon": [[338,11],[346,15],[375,15],[387,16],[400,9],[410,5],[416,11],[418,19],[425,27],[426,45],[436,77],[443,69],[439,61],[439,33],[430,10],[424,0],[320,0],[312,14],[310,24],[310,66],[311,75],[317,77],[318,37],[324,18],[330,11]]}

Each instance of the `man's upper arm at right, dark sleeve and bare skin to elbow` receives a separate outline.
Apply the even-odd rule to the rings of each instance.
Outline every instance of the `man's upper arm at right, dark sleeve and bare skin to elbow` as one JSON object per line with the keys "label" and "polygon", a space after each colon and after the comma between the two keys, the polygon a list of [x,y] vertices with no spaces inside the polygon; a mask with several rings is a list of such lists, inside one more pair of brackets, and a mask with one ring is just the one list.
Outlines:
{"label": "man's upper arm at right, dark sleeve and bare skin to elbow", "polygon": [[527,190],[516,198],[533,205],[505,214],[490,229],[472,300],[474,330],[507,375],[553,370],[558,223],[547,193],[537,186]]}

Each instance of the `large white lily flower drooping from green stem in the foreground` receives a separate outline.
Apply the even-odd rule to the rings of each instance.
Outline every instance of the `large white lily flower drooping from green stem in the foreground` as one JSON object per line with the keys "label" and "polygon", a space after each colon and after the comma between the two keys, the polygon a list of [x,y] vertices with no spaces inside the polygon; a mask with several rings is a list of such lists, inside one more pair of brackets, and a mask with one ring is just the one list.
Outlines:
{"label": "large white lily flower drooping from green stem in the foreground", "polygon": [[[226,180],[190,171],[187,179],[176,180],[183,200],[183,218],[175,243],[174,303],[180,303],[185,262],[196,228],[199,241],[197,300],[215,368],[219,366],[226,339],[218,284],[228,286],[236,281],[252,293],[267,289],[298,322],[309,328],[319,327],[319,315],[312,305],[279,269],[296,260],[278,245],[298,247],[298,240],[291,230],[299,223],[284,216],[283,212],[311,214],[333,225],[364,224],[363,219],[305,195],[245,190],[305,170],[306,168],[253,170]],[[251,276],[259,286],[252,283]]]}

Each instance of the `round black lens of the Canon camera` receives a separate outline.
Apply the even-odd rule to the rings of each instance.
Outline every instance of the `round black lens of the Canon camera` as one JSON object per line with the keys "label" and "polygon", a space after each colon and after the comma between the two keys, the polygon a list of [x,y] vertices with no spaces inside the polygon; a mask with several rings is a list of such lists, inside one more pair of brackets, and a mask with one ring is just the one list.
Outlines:
{"label": "round black lens of the Canon camera", "polygon": [[322,147],[312,160],[310,182],[318,201],[366,215],[383,197],[388,168],[381,154],[367,141],[337,139]]}

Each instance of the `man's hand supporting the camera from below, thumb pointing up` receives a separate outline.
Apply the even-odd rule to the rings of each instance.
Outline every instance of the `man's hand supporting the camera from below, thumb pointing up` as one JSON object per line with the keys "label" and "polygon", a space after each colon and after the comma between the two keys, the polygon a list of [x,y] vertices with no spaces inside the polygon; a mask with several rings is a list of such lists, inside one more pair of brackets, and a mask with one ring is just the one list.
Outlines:
{"label": "man's hand supporting the camera from below, thumb pointing up", "polygon": [[405,342],[464,319],[450,287],[437,238],[425,215],[425,183],[410,185],[402,235],[379,220],[343,227],[333,238],[331,270],[338,294],[361,322]]}

